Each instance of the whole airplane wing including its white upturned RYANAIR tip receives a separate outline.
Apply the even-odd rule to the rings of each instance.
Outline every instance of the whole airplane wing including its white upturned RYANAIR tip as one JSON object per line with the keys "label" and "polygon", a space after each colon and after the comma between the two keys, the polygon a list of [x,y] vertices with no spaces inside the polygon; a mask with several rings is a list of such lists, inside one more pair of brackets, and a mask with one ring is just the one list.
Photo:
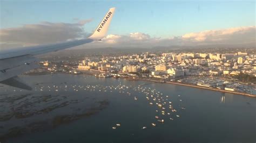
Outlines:
{"label": "whole airplane wing including its white upturned RYANAIR tip", "polygon": [[107,33],[115,8],[109,9],[98,25],[95,32],[87,39],[61,42],[57,44],[39,45],[31,47],[12,48],[0,51],[0,83],[12,87],[31,90],[28,85],[19,81],[17,75],[23,74],[31,69],[38,68],[37,59],[34,55],[56,52],[61,49],[83,45],[95,40],[102,39]]}

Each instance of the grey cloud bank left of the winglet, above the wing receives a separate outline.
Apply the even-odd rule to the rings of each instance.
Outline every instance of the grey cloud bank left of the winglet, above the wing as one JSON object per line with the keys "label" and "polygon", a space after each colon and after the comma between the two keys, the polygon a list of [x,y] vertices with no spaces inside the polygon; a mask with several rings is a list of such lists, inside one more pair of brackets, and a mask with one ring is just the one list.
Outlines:
{"label": "grey cloud bank left of the winglet, above the wing", "polygon": [[25,24],[22,27],[3,28],[0,30],[1,44],[38,45],[87,37],[83,26],[91,19],[77,23]]}

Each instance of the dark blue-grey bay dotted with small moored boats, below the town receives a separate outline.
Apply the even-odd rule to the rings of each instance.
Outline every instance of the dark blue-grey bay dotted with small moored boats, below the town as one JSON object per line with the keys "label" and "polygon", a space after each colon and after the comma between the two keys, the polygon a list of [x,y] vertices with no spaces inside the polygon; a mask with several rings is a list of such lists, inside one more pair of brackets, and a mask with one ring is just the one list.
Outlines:
{"label": "dark blue-grey bay dotted with small moored boats, below the town", "polygon": [[[256,98],[92,75],[0,87],[0,142],[255,142]],[[162,121],[163,119],[163,121]]]}

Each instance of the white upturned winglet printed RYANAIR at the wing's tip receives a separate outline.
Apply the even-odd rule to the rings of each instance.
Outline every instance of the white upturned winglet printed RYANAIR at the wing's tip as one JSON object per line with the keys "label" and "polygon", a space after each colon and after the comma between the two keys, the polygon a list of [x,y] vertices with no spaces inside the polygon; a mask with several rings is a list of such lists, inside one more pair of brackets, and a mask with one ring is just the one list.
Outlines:
{"label": "white upturned winglet printed RYANAIR at the wing's tip", "polygon": [[106,16],[103,18],[102,22],[100,22],[99,26],[96,28],[95,32],[89,37],[89,39],[99,40],[105,37],[111,19],[114,15],[115,9],[116,8],[109,9],[109,11],[106,13]]}

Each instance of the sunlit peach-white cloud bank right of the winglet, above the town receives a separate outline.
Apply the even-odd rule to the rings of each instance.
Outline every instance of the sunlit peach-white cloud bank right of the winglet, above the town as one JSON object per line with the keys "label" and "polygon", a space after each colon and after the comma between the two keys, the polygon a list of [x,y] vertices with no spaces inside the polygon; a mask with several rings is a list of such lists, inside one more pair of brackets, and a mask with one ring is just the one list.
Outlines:
{"label": "sunlit peach-white cloud bank right of the winglet, above the town", "polygon": [[255,26],[187,33],[180,37],[172,38],[152,38],[149,34],[136,32],[128,35],[107,35],[107,37],[102,40],[102,45],[106,44],[112,47],[154,47],[172,45],[252,44],[255,43],[255,32]]}

